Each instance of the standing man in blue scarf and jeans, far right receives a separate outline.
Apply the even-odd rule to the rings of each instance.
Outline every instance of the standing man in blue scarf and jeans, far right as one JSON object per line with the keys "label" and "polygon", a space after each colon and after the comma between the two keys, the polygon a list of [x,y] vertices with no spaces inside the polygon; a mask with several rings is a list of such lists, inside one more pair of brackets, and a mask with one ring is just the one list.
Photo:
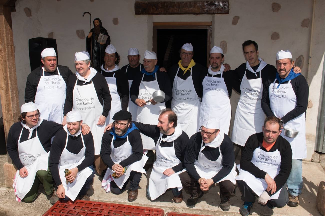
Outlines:
{"label": "standing man in blue scarf and jeans, far right", "polygon": [[303,187],[302,159],[307,156],[305,113],[309,87],[302,74],[293,73],[293,65],[294,61],[289,50],[278,51],[276,60],[278,73],[266,81],[261,106],[266,116],[281,119],[284,129],[299,131],[295,138],[281,133],[281,136],[290,142],[292,149],[292,169],[287,180],[288,206],[297,207]]}

